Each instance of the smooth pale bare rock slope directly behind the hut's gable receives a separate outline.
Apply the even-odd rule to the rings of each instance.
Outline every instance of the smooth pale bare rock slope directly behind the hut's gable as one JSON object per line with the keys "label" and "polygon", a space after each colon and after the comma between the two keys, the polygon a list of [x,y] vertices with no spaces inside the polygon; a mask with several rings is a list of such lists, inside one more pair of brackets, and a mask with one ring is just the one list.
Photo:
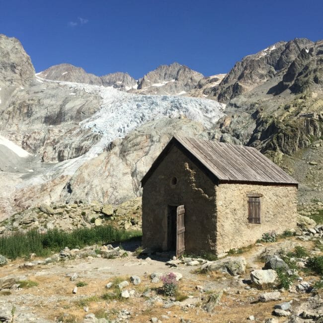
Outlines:
{"label": "smooth pale bare rock slope directly behind the hut's gable", "polygon": [[187,119],[151,121],[116,140],[108,151],[84,163],[63,190],[62,201],[98,199],[119,204],[141,195],[140,180],[174,134],[207,138],[206,129]]}

